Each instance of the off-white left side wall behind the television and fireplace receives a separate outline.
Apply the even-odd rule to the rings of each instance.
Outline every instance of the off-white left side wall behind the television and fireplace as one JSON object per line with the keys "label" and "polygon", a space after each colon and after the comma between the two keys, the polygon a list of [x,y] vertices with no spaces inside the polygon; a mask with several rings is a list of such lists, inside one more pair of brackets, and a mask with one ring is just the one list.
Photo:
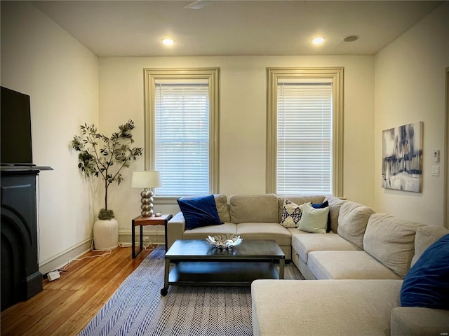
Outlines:
{"label": "off-white left side wall behind the television and fireplace", "polygon": [[1,85],[29,94],[33,161],[54,169],[39,174],[39,265],[45,273],[58,255],[90,247],[89,186],[69,141],[81,123],[98,123],[98,58],[31,3],[1,1]]}

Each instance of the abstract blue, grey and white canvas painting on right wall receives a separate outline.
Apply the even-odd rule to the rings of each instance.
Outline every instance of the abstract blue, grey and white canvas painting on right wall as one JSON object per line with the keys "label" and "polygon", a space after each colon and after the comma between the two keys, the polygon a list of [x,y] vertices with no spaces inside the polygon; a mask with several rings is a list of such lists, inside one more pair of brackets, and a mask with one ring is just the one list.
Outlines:
{"label": "abstract blue, grey and white canvas painting on right wall", "polygon": [[423,123],[382,131],[382,188],[422,192]]}

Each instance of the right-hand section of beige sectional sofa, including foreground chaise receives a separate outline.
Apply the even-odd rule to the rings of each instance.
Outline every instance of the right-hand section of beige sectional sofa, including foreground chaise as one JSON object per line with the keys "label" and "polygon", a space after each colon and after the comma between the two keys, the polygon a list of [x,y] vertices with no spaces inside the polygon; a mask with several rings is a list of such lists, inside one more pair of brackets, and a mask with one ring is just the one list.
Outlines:
{"label": "right-hand section of beige sectional sofa, including foreground chaise", "polygon": [[448,310],[401,307],[400,297],[410,267],[449,230],[329,203],[335,232],[292,236],[293,262],[319,281],[254,281],[254,335],[449,335]]}

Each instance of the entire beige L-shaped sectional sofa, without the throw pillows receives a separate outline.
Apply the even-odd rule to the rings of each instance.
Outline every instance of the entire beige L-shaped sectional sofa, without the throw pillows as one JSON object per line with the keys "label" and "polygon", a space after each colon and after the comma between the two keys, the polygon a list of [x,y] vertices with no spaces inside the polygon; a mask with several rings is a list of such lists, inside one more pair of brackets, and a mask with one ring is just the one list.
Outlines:
{"label": "entire beige L-shaped sectional sofa, without the throw pillows", "polygon": [[[168,223],[175,239],[241,235],[275,239],[306,279],[256,280],[254,335],[449,335],[449,311],[401,307],[403,277],[441,227],[375,214],[363,204],[324,196],[214,195],[221,225],[185,230],[182,213]],[[284,228],[285,199],[329,203],[328,233]]]}

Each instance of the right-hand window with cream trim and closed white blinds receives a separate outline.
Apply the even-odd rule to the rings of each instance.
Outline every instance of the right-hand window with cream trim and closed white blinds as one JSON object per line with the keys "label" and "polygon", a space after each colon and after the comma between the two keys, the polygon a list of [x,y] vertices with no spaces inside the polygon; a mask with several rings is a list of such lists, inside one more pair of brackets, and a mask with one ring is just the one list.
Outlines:
{"label": "right-hand window with cream trim and closed white blinds", "polygon": [[267,192],[342,197],[342,68],[267,69]]}

